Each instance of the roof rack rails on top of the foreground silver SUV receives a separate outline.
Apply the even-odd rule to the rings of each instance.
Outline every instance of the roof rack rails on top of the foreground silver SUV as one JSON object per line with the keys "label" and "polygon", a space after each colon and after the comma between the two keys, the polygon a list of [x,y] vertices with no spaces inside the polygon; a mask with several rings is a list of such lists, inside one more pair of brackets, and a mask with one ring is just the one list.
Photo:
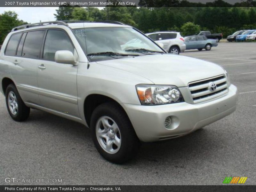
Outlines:
{"label": "roof rack rails on top of the foreground silver SUV", "polygon": [[40,22],[40,23],[31,23],[27,25],[21,25],[15,28],[12,28],[12,31],[17,31],[19,29],[24,29],[24,28],[30,28],[30,27],[37,27],[37,26],[44,26],[44,25],[52,25],[52,24],[57,24],[57,25],[65,25],[68,26],[68,23],[113,23],[113,24],[118,24],[118,25],[124,25],[124,23],[121,23],[119,21],[80,21],[80,20],[62,20],[62,21],[45,21],[45,22]]}

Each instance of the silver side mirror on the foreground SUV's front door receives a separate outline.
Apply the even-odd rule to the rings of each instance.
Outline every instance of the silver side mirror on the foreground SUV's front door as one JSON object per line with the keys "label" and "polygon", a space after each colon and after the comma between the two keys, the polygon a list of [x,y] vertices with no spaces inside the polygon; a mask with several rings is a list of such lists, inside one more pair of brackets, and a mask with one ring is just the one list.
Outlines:
{"label": "silver side mirror on the foreground SUV's front door", "polygon": [[74,54],[71,51],[56,51],[54,60],[56,63],[76,65]]}

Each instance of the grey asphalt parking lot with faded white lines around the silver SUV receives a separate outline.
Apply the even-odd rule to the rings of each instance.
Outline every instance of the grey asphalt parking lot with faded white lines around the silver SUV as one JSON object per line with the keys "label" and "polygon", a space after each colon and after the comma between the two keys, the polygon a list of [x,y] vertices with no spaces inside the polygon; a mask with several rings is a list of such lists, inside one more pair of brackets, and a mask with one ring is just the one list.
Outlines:
{"label": "grey asphalt parking lot with faded white lines around the silver SUV", "polygon": [[0,184],[15,177],[62,179],[37,183],[48,185],[220,185],[227,176],[243,176],[255,185],[256,43],[219,43],[181,55],[228,71],[239,92],[235,113],[181,138],[143,143],[136,159],[116,165],[100,156],[83,125],[33,109],[26,122],[15,122],[1,95]]}

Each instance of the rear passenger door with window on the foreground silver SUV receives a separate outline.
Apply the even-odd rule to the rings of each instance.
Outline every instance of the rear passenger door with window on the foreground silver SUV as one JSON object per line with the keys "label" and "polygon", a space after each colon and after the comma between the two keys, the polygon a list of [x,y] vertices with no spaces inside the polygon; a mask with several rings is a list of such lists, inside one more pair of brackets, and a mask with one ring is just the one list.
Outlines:
{"label": "rear passenger door with window on the foreground silver SUV", "polygon": [[31,30],[20,33],[19,45],[17,49],[15,48],[15,52],[10,53],[8,47],[5,51],[5,55],[14,55],[6,57],[14,64],[10,68],[11,74],[24,102],[40,104],[36,72],[44,32],[45,30]]}

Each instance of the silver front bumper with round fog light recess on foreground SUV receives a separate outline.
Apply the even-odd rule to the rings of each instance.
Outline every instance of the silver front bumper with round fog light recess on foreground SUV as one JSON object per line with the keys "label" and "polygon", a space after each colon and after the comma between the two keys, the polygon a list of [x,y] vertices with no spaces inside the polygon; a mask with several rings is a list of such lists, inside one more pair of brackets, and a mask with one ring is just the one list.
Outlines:
{"label": "silver front bumper with round fog light recess on foreground SUV", "polygon": [[[148,142],[179,137],[211,124],[234,112],[236,101],[237,88],[230,85],[228,93],[208,102],[156,106],[123,103],[123,107],[139,139]],[[172,124],[167,129],[164,120],[168,116]]]}

